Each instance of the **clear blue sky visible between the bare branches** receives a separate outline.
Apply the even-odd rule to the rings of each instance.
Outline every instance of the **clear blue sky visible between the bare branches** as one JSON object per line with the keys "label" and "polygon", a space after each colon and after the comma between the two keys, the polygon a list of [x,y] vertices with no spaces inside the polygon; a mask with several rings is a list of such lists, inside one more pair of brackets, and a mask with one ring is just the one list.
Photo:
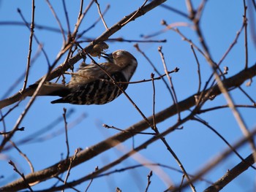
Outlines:
{"label": "clear blue sky visible between the bare branches", "polygon": [[[54,9],[59,16],[62,25],[67,30],[67,23],[64,18],[64,11],[61,1],[52,1]],[[78,17],[78,10],[80,1],[67,1],[67,9],[69,14],[70,26],[73,29]],[[42,26],[50,26],[53,28],[58,28],[56,20],[53,18],[52,13],[45,1],[36,1],[35,9],[35,23]],[[99,1],[102,10],[105,9],[108,2]],[[143,1],[124,1],[115,0],[110,2],[110,10],[105,15],[105,21],[108,26],[113,26],[118,20],[121,20],[125,15],[138,9],[138,7],[143,4]],[[170,7],[174,7],[183,12],[187,12],[186,4],[184,1],[167,1]],[[200,4],[200,1],[193,1],[194,7]],[[87,1],[84,2],[87,5]],[[20,15],[17,9],[20,9],[24,17],[28,22],[31,20],[31,1],[0,1],[0,21],[16,21],[21,22]],[[203,18],[200,22],[202,26],[203,36],[206,39],[206,43],[209,47],[210,53],[214,58],[214,61],[218,62],[222,55],[224,55],[227,48],[233,42],[236,37],[237,31],[242,26],[242,15],[244,14],[243,1],[207,1],[206,7],[203,10]],[[86,15],[83,24],[80,26],[80,31],[89,28],[94,20],[99,17],[97,12],[97,6],[94,4]],[[156,9],[148,12],[143,17],[132,21],[124,28],[121,28],[116,34],[111,38],[123,37],[124,39],[138,39],[141,40],[141,35],[154,34],[156,31],[162,30],[164,26],[160,25],[161,20],[166,20],[167,23],[189,23],[187,18],[177,15],[176,13],[170,12],[163,7],[157,7]],[[249,26],[250,27],[250,26]],[[195,42],[196,45],[200,45],[195,31],[188,27],[179,27],[179,30],[184,33],[189,39]],[[0,87],[1,93],[0,98],[4,96],[7,89],[12,86],[20,74],[22,74],[26,69],[26,61],[29,48],[29,34],[30,31],[25,26],[19,25],[0,25],[0,64],[1,64],[1,75],[0,75]],[[48,31],[45,29],[35,28],[35,35],[42,43],[44,49],[48,55],[50,63],[56,58],[59,50],[62,46],[61,34]],[[97,26],[91,29],[84,37],[85,38],[96,38],[105,31],[105,27],[102,22],[99,22]],[[255,64],[255,45],[252,43],[251,36],[248,36],[248,49],[249,49],[249,66]],[[188,42],[184,42],[181,37],[174,31],[167,31],[157,37],[152,37],[152,40],[162,40],[167,39],[166,43],[139,43],[141,50],[143,50],[146,55],[151,59],[154,65],[159,69],[159,72],[164,74],[164,68],[162,65],[161,58],[157,51],[157,47],[162,46],[162,52],[165,54],[165,61],[167,63],[167,68],[169,70],[174,69],[176,66],[180,71],[176,74],[172,74],[172,80],[174,88],[176,89],[176,94],[178,101],[186,99],[192,96],[197,91],[198,78],[197,78],[197,64],[195,57],[192,54],[192,50]],[[87,43],[81,44],[83,47],[88,45]],[[154,69],[148,64],[145,58],[143,58],[140,53],[133,47],[134,43],[130,42],[113,42],[108,43],[109,52],[114,50],[124,49],[128,50],[130,53],[135,55],[138,59],[138,69],[135,75],[132,77],[132,81],[149,79]],[[32,47],[32,57],[37,53],[38,45],[34,41]],[[206,59],[197,52],[198,59],[200,61],[200,68],[202,73],[202,85],[205,84],[208,77],[211,75],[211,69],[208,66]],[[59,64],[64,61],[61,59]],[[89,62],[89,59],[86,60]],[[99,60],[104,61],[102,59]],[[238,38],[233,50],[227,55],[227,58],[222,63],[223,66],[229,67],[229,72],[227,77],[231,77],[233,74],[241,71],[244,67],[244,31]],[[78,65],[76,65],[78,66]],[[48,65],[46,63],[44,55],[42,53],[35,60],[33,66],[31,67],[31,72],[29,74],[29,85],[33,84],[36,80],[42,77]],[[157,76],[157,75],[156,75]],[[167,92],[165,85],[161,80],[155,82],[156,84],[156,112],[164,110],[173,104],[170,94]],[[15,88],[9,96],[22,88],[23,80],[15,83]],[[255,84],[246,88],[243,86],[247,93],[249,93],[252,98],[255,99]],[[127,88],[127,93],[138,104],[140,110],[146,115],[150,116],[152,114],[152,84],[151,82],[143,82],[139,84],[129,85]],[[232,91],[231,96],[233,97],[236,104],[252,104],[249,99],[241,93],[241,91]],[[134,123],[142,120],[140,114],[135,110],[135,107],[128,101],[128,99],[121,95],[113,102],[105,104],[102,106],[91,105],[91,106],[76,106],[71,104],[50,104],[50,101],[54,100],[53,97],[38,97],[31,109],[27,113],[26,117],[23,119],[20,126],[24,126],[26,131],[16,133],[13,137],[13,141],[17,142],[20,139],[26,138],[34,132],[38,131],[40,128],[48,126],[50,122],[56,120],[56,118],[61,117],[63,113],[63,108],[67,108],[67,112],[72,112],[72,114],[67,118],[68,123],[72,124],[76,120],[80,119],[83,115],[85,118],[79,123],[75,124],[75,127],[69,130],[69,147],[71,155],[74,153],[75,149],[78,147],[86,148],[91,145],[96,144],[113,134],[117,131],[113,129],[106,129],[102,127],[102,124],[108,124],[110,126],[116,126],[118,128],[127,128]],[[18,119],[20,112],[24,110],[29,99],[22,101],[10,115],[5,118],[5,124],[8,130],[11,130]],[[222,104],[227,104],[223,96],[218,96],[214,101],[208,101],[203,108],[219,106]],[[6,107],[2,110],[3,113],[7,112],[10,107]],[[255,128],[255,112],[252,108],[250,109],[239,109],[242,117],[246,122],[246,126],[249,129]],[[181,117],[185,117],[189,112],[184,112]],[[242,137],[241,130],[233,117],[232,112],[229,109],[216,110],[200,115],[200,118],[206,120],[211,126],[217,129],[220,134],[222,134],[228,142],[233,144],[239,138]],[[166,128],[172,126],[176,123],[177,116],[169,118],[162,123],[159,123],[159,131],[165,131]],[[2,130],[2,124],[0,124]],[[53,129],[43,134],[43,138],[48,138],[45,142],[33,142],[27,145],[20,145],[20,150],[30,158],[35,170],[44,169],[47,166],[56,164],[61,159],[61,153],[65,157],[67,155],[67,147],[65,144],[65,135],[60,134],[56,137],[52,137],[53,134],[57,134],[59,131],[64,131],[64,121],[61,120]],[[151,132],[150,129],[147,130]],[[140,145],[140,143],[149,139],[149,136],[138,135],[135,137],[135,145]],[[195,174],[206,162],[211,161],[214,156],[218,155],[220,152],[227,148],[224,142],[222,142],[219,137],[217,137],[208,128],[199,124],[195,121],[189,121],[184,124],[182,130],[174,131],[172,134],[165,137],[167,142],[173,148],[173,150],[180,158],[181,162],[184,164],[185,169],[190,174]],[[129,139],[124,142],[124,146],[127,149],[131,149],[132,140]],[[248,146],[242,147],[238,152],[245,158],[251,153]],[[94,171],[95,166],[102,167],[106,163],[118,158],[122,151],[118,149],[108,150],[101,155],[87,161],[86,163],[75,167],[72,169],[69,180],[75,180],[82,175],[89,174]],[[157,141],[152,145],[149,145],[146,150],[141,150],[140,155],[144,158],[152,161],[154,163],[166,164],[173,166],[178,169],[176,161],[170,153],[167,152],[166,147],[162,142]],[[4,174],[4,179],[0,180],[0,185],[4,185],[10,180],[15,180],[18,175],[12,171],[12,167],[8,164],[8,160],[12,159],[15,164],[20,169],[20,172],[24,174],[29,174],[29,166],[27,162],[22,158],[17,150],[9,150],[7,153],[0,154],[0,169],[1,174]],[[240,159],[236,155],[230,155],[230,158],[223,161],[222,164],[217,166],[214,171],[206,174],[204,178],[211,180],[212,182],[222,177],[227,169],[231,169],[233,166],[238,164]],[[119,164],[114,169],[124,168],[126,166],[139,164],[133,158],[129,158],[122,164]],[[163,168],[162,168],[163,169]],[[170,169],[163,169],[164,172],[169,176],[173,183],[178,185],[181,180],[181,174],[174,172]],[[99,191],[104,188],[106,191],[114,191],[116,187],[121,188],[123,191],[143,191],[146,187],[146,175],[150,170],[148,168],[138,168],[136,170],[120,172],[109,177],[102,177],[95,179],[91,184],[90,191]],[[137,180],[137,181],[136,181]],[[148,191],[163,191],[166,186],[162,180],[153,173],[151,177],[152,183]],[[127,182],[128,181],[128,182]],[[35,186],[34,190],[39,190],[42,188],[48,188],[56,180],[51,180],[45,183],[40,183]],[[247,183],[245,185],[245,183]],[[88,182],[78,185],[80,191],[84,191]],[[203,191],[208,184],[207,183],[196,183],[197,191]],[[252,169],[248,169],[246,172],[241,174],[233,183],[226,186],[223,191],[252,191],[255,187],[255,172]],[[68,191],[68,190],[67,190]],[[188,188],[187,191],[190,191]]]}

